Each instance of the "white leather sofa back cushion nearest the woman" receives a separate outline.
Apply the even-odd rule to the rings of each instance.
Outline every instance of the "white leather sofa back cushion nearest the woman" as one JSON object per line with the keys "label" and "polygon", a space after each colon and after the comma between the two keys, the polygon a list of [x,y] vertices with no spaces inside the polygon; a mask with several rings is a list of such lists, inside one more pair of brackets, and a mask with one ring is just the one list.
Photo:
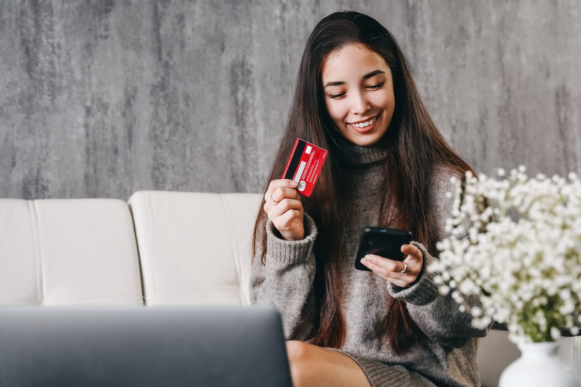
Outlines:
{"label": "white leather sofa back cushion nearest the woman", "polygon": [[147,305],[249,304],[261,194],[137,191],[129,199]]}

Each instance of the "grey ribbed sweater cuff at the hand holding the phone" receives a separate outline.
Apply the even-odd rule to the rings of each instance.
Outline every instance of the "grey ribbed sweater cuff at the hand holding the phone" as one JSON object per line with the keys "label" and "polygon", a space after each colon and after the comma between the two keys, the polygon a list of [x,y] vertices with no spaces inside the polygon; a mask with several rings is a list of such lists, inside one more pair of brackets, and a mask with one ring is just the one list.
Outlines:
{"label": "grey ribbed sweater cuff at the hand holding the phone", "polygon": [[435,273],[430,273],[426,267],[437,258],[429,254],[428,250],[417,241],[411,241],[411,244],[419,248],[424,256],[424,263],[417,279],[410,286],[403,288],[388,281],[388,291],[393,298],[399,298],[406,303],[413,305],[426,305],[439,294],[437,284],[433,281]]}

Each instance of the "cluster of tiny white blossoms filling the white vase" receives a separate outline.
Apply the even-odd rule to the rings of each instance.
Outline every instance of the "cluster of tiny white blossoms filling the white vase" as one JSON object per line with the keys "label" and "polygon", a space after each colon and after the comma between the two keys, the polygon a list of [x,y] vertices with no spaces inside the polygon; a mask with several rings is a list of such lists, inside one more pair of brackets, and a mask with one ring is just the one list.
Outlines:
{"label": "cluster of tiny white blossoms filling the white vase", "polygon": [[440,259],[426,270],[461,310],[469,308],[466,296],[480,295],[484,310],[470,310],[475,327],[494,320],[507,324],[515,343],[550,342],[561,328],[577,335],[581,326],[581,182],[573,172],[567,181],[542,173],[529,179],[525,170],[503,180],[470,171],[451,178],[451,236],[436,244]]}

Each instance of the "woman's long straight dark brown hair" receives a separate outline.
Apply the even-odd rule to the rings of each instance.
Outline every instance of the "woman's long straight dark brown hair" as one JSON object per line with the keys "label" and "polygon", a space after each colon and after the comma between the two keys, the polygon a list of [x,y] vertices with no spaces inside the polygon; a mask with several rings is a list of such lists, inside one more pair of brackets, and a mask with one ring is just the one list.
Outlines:
{"label": "woman's long straight dark brown hair", "polygon": [[[304,211],[313,218],[318,229],[314,243],[314,287],[319,320],[308,340],[315,345],[332,348],[341,348],[346,334],[345,319],[339,309],[340,279],[335,259],[342,236],[332,230],[338,229],[340,214],[349,206],[341,194],[349,186],[344,179],[345,166],[338,147],[339,135],[325,107],[321,68],[329,53],[346,45],[373,50],[392,71],[396,103],[389,128],[380,140],[387,148],[382,192],[389,195],[383,197],[381,202],[378,226],[410,230],[414,240],[424,244],[428,251],[435,251],[436,237],[426,219],[428,180],[432,167],[446,165],[457,172],[458,178],[462,178],[466,171],[477,176],[437,130],[419,96],[396,39],[385,27],[370,16],[347,10],[332,13],[317,24],[307,39],[300,60],[295,93],[274,158],[276,162],[272,164],[263,191],[266,192],[271,180],[281,178],[285,165],[280,161],[286,160],[296,138],[329,150],[317,187],[310,197],[302,197],[301,201]],[[392,193],[396,194],[392,197]],[[256,248],[260,244],[261,262],[264,264],[268,218],[263,206],[264,198],[254,223],[252,259],[256,258]],[[405,302],[390,296],[386,302],[388,312],[377,327],[376,335],[385,335],[398,353],[425,339],[411,320]]]}

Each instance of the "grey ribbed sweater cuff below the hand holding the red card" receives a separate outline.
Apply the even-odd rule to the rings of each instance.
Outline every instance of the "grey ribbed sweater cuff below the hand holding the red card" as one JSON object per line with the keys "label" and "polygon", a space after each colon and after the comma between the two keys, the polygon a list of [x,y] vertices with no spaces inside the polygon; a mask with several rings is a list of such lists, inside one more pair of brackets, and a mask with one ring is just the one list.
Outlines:
{"label": "grey ribbed sweater cuff below the hand holding the red card", "polygon": [[270,219],[266,222],[267,257],[282,263],[304,262],[309,257],[317,237],[317,226],[313,218],[303,212],[304,238],[297,241],[287,241],[280,235]]}

